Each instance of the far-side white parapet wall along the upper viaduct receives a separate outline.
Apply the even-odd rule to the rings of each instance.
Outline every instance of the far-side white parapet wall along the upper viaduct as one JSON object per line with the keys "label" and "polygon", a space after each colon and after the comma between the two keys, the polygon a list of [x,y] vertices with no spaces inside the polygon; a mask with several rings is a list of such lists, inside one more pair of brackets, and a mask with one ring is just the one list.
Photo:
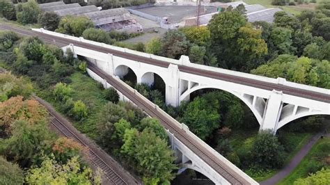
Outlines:
{"label": "far-side white parapet wall along the upper viaduct", "polygon": [[45,33],[45,34],[49,34],[49,35],[54,35],[54,36],[60,37],[60,38],[67,38],[67,39],[75,40],[75,41],[78,41],[78,42],[88,43],[90,45],[96,45],[96,46],[99,46],[99,47],[105,47],[105,48],[108,48],[108,49],[121,51],[121,52],[124,52],[124,53],[127,53],[127,54],[134,54],[136,56],[143,56],[143,57],[146,57],[146,58],[152,58],[152,59],[155,59],[155,60],[158,60],[158,61],[163,61],[164,63],[172,63],[172,64],[175,64],[175,65],[184,65],[184,66],[187,66],[187,67],[194,67],[196,69],[207,70],[207,71],[211,71],[211,72],[219,72],[219,73],[222,73],[222,74],[228,74],[228,75],[233,75],[233,76],[237,76],[237,77],[244,77],[246,79],[253,79],[253,80],[263,81],[263,82],[267,82],[267,83],[281,84],[283,86],[300,88],[300,89],[304,89],[304,90],[311,90],[311,91],[317,92],[317,93],[329,94],[329,90],[327,90],[327,89],[317,88],[317,87],[314,87],[314,86],[307,86],[307,85],[304,85],[304,84],[301,84],[301,83],[294,83],[294,82],[286,81],[283,78],[273,79],[273,78],[269,78],[269,77],[258,76],[256,74],[236,72],[236,71],[233,71],[233,70],[226,70],[226,69],[222,69],[222,68],[219,68],[219,67],[211,67],[211,66],[207,66],[207,65],[199,65],[199,64],[196,64],[196,63],[191,63],[189,61],[188,56],[181,56],[180,60],[175,60],[173,58],[166,58],[166,57],[163,57],[163,56],[156,56],[156,55],[153,55],[153,54],[146,54],[146,53],[143,53],[141,51],[134,51],[132,49],[126,49],[126,48],[123,48],[123,47],[116,47],[116,46],[113,46],[113,45],[107,45],[107,44],[104,44],[102,42],[95,42],[95,41],[92,41],[92,40],[86,40],[82,37],[77,38],[77,37],[70,36],[70,35],[65,35],[65,34],[62,34],[62,33],[56,33],[54,31],[47,31],[45,29],[32,29],[32,30],[33,31],[38,31],[38,32],[41,32],[41,33]]}

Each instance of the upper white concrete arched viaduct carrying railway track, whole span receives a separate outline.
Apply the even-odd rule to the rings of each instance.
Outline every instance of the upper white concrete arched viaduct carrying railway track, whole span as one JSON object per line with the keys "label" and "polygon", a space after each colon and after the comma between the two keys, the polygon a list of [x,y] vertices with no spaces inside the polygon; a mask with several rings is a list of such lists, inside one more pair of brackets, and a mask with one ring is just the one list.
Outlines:
{"label": "upper white concrete arched viaduct carrying railway track, whole span", "polygon": [[225,90],[251,109],[260,129],[271,129],[274,133],[304,116],[330,115],[328,89],[198,65],[190,63],[187,56],[175,60],[43,29],[33,31],[38,31],[41,37],[70,44],[74,54],[90,59],[112,76],[123,77],[131,69],[138,83],[151,85],[154,75],[159,75],[166,85],[166,104],[173,106],[189,100],[189,95],[199,89]]}

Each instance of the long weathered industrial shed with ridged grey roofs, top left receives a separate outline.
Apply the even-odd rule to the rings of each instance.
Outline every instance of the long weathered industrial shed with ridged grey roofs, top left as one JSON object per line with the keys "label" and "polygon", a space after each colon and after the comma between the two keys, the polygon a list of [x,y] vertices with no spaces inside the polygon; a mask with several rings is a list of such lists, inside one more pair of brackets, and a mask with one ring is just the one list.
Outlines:
{"label": "long weathered industrial shed with ridged grey roofs, top left", "polygon": [[79,3],[65,4],[63,1],[42,3],[39,6],[42,11],[53,12],[60,17],[66,15],[88,17],[94,22],[96,28],[103,29],[104,31],[143,32],[141,24],[125,8],[100,10],[94,5],[80,6]]}

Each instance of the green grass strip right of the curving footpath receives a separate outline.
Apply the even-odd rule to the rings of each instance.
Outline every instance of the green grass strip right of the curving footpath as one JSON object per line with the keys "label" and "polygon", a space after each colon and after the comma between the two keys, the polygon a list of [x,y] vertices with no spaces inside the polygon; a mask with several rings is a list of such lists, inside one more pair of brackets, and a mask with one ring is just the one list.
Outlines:
{"label": "green grass strip right of the curving footpath", "polygon": [[330,154],[330,138],[323,138],[317,141],[311,151],[304,157],[291,174],[278,184],[293,184],[299,178],[305,178],[310,172],[320,170],[322,166],[330,167],[325,159]]}

